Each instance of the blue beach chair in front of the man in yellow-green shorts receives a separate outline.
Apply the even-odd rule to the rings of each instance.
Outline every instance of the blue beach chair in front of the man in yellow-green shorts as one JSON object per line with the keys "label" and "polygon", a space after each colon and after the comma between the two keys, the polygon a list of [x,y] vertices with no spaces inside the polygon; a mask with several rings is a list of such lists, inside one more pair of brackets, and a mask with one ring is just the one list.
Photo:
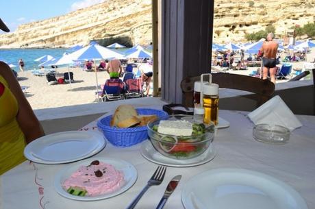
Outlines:
{"label": "blue beach chair in front of the man in yellow-green shorts", "polygon": [[123,99],[123,90],[125,88],[125,84],[121,79],[112,78],[107,79],[101,97],[102,101],[113,101]]}

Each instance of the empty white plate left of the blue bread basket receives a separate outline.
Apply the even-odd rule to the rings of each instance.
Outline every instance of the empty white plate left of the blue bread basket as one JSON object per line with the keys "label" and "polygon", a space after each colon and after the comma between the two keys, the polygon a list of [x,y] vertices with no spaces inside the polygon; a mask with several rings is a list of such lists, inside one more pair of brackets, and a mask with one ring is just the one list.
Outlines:
{"label": "empty white plate left of the blue bread basket", "polygon": [[24,149],[24,156],[33,162],[60,164],[88,158],[105,145],[105,138],[99,132],[59,132],[29,143]]}

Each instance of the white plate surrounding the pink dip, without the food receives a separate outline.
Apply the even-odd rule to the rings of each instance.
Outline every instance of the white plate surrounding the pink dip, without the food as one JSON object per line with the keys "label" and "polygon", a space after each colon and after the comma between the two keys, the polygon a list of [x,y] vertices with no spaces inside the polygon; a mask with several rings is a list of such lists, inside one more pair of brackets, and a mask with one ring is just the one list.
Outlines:
{"label": "white plate surrounding the pink dip, without the food", "polygon": [[[112,166],[115,167],[116,170],[121,171],[124,175],[124,184],[119,188],[118,190],[115,190],[112,193],[98,195],[94,197],[80,197],[76,195],[71,195],[62,188],[62,183],[66,178],[68,178],[71,173],[77,171],[80,166],[82,165],[89,165],[92,161],[99,160],[101,162],[105,162],[108,164],[112,164]],[[89,158],[86,160],[82,160],[80,162],[76,162],[74,164],[69,165],[65,169],[62,169],[56,176],[55,176],[55,189],[57,192],[62,195],[63,197],[66,197],[68,199],[75,199],[80,201],[95,201],[99,199],[107,199],[110,197],[114,197],[116,195],[119,195],[123,192],[125,192],[127,189],[129,189],[137,180],[137,170],[136,168],[130,164],[129,162],[126,162],[125,160],[118,160],[113,158]]]}

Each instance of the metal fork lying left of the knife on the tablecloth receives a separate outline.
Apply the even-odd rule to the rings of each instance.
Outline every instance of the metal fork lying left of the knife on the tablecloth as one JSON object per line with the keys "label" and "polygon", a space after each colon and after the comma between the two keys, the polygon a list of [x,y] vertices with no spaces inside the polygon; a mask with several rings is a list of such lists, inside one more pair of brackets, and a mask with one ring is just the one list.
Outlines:
{"label": "metal fork lying left of the knife on the tablecloth", "polygon": [[166,172],[166,167],[159,166],[153,173],[152,177],[147,183],[147,186],[144,186],[139,195],[131,202],[131,204],[126,209],[132,209],[136,206],[142,195],[148,190],[150,186],[160,185],[164,180],[164,175]]}

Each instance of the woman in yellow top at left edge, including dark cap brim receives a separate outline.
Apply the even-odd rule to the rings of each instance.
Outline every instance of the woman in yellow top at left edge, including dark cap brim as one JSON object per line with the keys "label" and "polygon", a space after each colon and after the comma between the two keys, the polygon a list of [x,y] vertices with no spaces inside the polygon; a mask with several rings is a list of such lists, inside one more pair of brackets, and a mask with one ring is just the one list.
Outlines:
{"label": "woman in yellow top at left edge, including dark cap brim", "polygon": [[[8,28],[0,19],[0,29]],[[42,127],[8,64],[0,62],[0,175],[25,161],[27,143],[44,136]]]}

